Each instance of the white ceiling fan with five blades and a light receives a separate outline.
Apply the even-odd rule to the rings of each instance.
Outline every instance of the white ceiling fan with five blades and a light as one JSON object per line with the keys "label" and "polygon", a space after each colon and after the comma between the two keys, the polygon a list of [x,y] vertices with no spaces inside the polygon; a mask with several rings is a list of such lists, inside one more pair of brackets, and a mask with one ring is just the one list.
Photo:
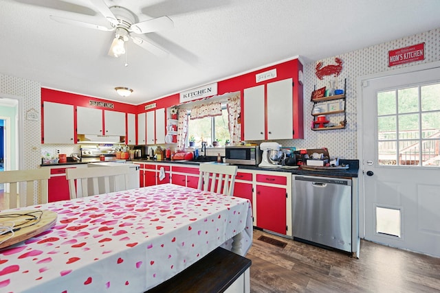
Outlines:
{"label": "white ceiling fan with five blades and a light", "polygon": [[103,25],[96,25],[93,23],[86,23],[83,21],[76,21],[74,19],[65,19],[60,16],[51,15],[50,18],[60,23],[67,23],[70,25],[78,25],[81,27],[87,27],[94,30],[101,30],[104,32],[115,32],[115,38],[111,43],[109,49],[109,56],[115,58],[125,54],[125,43],[131,38],[133,43],[139,45],[143,49],[150,51],[159,57],[165,57],[168,55],[168,51],[154,45],[153,43],[140,38],[139,36],[133,36],[133,34],[146,34],[148,32],[157,32],[159,30],[168,30],[174,27],[173,21],[168,16],[161,16],[156,19],[149,19],[148,21],[140,21],[135,23],[136,16],[130,10],[121,6],[108,7],[103,0],[89,0],[96,9],[110,22],[111,28]]}

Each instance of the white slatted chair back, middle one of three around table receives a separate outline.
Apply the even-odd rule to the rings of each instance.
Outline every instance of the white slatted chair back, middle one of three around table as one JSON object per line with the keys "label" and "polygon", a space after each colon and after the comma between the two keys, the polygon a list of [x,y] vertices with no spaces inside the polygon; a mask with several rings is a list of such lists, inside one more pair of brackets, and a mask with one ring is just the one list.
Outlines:
{"label": "white slatted chair back, middle one of three around table", "polygon": [[[129,166],[121,163],[120,166],[110,167],[87,167],[66,169],[66,179],[69,180],[70,198],[81,196],[96,196],[97,194],[107,194],[115,189],[117,176],[124,176],[121,190],[129,186]],[[80,183],[81,196],[78,196],[76,184]],[[78,187],[79,188],[79,187]]]}

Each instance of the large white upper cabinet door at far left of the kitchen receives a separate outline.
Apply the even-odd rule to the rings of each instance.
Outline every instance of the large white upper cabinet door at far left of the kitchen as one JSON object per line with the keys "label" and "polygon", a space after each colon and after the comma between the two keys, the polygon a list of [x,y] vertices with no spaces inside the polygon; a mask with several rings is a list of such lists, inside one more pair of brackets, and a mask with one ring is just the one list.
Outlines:
{"label": "large white upper cabinet door at far left of the kitchen", "polygon": [[74,106],[43,102],[44,143],[75,143]]}

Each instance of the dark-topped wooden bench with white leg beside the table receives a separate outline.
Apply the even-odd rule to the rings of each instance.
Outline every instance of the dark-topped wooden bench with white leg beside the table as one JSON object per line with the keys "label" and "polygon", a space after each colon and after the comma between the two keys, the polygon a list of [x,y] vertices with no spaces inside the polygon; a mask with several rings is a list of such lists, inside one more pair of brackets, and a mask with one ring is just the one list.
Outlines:
{"label": "dark-topped wooden bench with white leg beside the table", "polygon": [[173,278],[144,293],[248,293],[252,261],[223,248],[216,248]]}

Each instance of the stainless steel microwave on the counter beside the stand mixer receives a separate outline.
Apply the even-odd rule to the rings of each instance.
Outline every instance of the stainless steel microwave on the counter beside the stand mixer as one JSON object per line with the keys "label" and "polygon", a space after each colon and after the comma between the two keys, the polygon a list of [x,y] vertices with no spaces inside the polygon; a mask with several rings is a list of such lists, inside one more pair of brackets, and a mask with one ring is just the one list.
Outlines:
{"label": "stainless steel microwave on the counter beside the stand mixer", "polygon": [[258,145],[227,146],[225,162],[233,165],[259,165],[261,163],[260,147]]}

